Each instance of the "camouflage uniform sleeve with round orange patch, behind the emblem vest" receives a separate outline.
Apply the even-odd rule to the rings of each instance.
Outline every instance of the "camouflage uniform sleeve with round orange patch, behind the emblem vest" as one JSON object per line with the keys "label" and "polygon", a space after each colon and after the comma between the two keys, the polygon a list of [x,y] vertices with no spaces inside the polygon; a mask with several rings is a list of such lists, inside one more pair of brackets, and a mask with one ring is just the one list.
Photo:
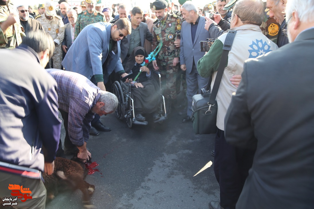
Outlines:
{"label": "camouflage uniform sleeve with round orange patch, behind the emblem vest", "polygon": [[263,34],[273,41],[275,44],[277,43],[277,35],[279,32],[280,25],[276,22],[274,18],[269,18],[267,14],[265,14],[263,23],[260,26]]}

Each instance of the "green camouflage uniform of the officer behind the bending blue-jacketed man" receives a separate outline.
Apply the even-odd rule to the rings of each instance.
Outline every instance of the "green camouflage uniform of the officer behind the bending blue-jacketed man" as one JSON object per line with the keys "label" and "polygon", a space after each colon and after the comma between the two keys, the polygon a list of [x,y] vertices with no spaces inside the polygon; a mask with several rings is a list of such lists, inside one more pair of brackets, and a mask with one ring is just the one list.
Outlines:
{"label": "green camouflage uniform of the officer behind the bending blue-jacketed man", "polygon": [[93,13],[88,13],[87,11],[79,13],[78,19],[76,20],[75,24],[74,40],[76,39],[78,34],[83,30],[83,28],[85,28],[89,24],[98,22],[106,23],[106,17],[104,13],[98,12],[97,10],[95,10]]}

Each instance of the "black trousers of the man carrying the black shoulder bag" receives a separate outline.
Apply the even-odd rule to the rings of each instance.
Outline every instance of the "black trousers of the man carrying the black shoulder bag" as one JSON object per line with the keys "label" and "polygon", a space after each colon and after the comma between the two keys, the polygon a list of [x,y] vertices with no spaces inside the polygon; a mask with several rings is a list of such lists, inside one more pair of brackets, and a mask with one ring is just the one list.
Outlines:
{"label": "black trousers of the man carrying the black shoulder bag", "polygon": [[220,206],[235,209],[255,150],[240,149],[225,140],[225,132],[217,128],[215,138],[214,172],[220,186]]}

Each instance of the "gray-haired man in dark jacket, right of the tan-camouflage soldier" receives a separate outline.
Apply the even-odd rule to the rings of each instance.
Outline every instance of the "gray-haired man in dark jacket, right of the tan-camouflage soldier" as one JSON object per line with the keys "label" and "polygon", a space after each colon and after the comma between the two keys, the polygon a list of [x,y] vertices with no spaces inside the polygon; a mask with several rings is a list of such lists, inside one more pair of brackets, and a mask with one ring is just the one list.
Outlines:
{"label": "gray-haired man in dark jacket, right of the tan-camouflage soldier", "polygon": [[74,41],[75,23],[78,15],[74,9],[67,12],[69,23],[64,25],[64,39],[62,41],[63,58]]}

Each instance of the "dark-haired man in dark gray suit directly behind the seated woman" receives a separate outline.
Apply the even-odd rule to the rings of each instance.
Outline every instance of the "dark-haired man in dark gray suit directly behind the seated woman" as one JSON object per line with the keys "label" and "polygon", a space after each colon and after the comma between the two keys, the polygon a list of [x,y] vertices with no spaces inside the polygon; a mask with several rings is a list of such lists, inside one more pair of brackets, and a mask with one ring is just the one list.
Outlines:
{"label": "dark-haired man in dark gray suit directly behind the seated woman", "polygon": [[132,33],[126,39],[121,40],[121,60],[123,68],[135,47],[144,47],[145,39],[149,42],[153,40],[153,34],[149,31],[146,23],[142,22],[143,11],[139,7],[134,7],[131,14]]}

